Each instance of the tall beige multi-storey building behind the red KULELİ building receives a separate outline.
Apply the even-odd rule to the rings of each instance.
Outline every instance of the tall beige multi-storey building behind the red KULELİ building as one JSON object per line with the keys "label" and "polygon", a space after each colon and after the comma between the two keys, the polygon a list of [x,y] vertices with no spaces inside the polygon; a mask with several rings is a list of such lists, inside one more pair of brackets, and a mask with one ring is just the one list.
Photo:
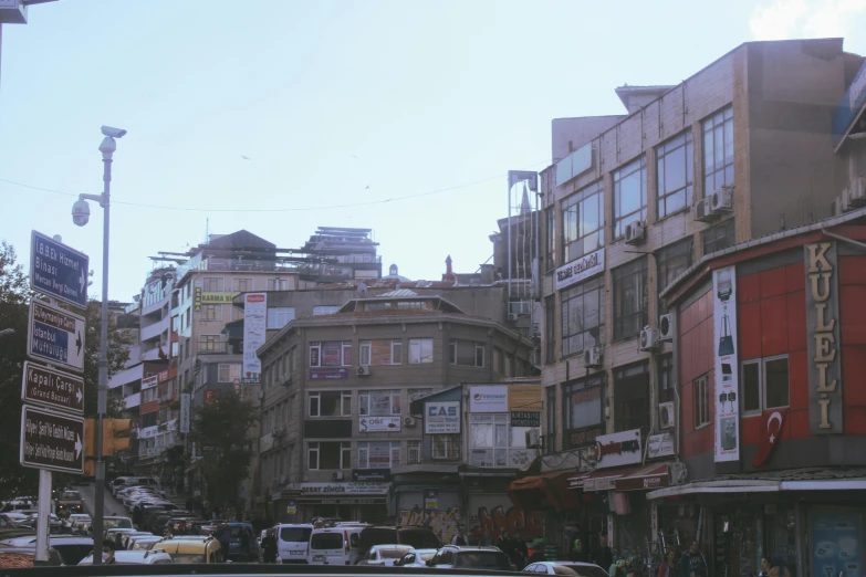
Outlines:
{"label": "tall beige multi-storey building behind the red KULEL\u0130 building", "polygon": [[626,115],[553,120],[540,187],[546,454],[512,493],[547,513],[554,541],[656,541],[646,489],[682,474],[664,290],[708,255],[831,216],[848,181],[834,111],[862,63],[841,39],[745,43],[675,86],[618,88]]}

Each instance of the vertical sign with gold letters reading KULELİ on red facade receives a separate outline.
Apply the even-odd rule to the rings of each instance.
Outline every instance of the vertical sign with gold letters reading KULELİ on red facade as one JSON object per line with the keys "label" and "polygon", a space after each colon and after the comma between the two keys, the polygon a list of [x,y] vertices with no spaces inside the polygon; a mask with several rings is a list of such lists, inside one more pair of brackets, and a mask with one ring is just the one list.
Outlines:
{"label": "vertical sign with gold letters reading KULEL\u0130 on red facade", "polygon": [[844,432],[838,259],[835,242],[805,245],[808,430]]}

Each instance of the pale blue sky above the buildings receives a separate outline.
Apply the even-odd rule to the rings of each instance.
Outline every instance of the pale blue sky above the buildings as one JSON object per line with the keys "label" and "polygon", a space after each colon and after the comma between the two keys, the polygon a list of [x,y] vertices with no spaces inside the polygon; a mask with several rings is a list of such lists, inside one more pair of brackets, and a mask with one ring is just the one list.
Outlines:
{"label": "pale blue sky above the buildings", "polygon": [[[59,0],[2,28],[0,239],[91,256],[101,296],[101,125],[117,141],[109,297],[158,251],[247,229],[300,248],[375,231],[384,272],[471,273],[508,214],[508,170],[551,164],[551,120],[623,114],[614,88],[677,84],[751,40],[844,36],[866,0]],[[859,32],[859,35],[857,35]],[[243,158],[247,157],[247,158]]]}

